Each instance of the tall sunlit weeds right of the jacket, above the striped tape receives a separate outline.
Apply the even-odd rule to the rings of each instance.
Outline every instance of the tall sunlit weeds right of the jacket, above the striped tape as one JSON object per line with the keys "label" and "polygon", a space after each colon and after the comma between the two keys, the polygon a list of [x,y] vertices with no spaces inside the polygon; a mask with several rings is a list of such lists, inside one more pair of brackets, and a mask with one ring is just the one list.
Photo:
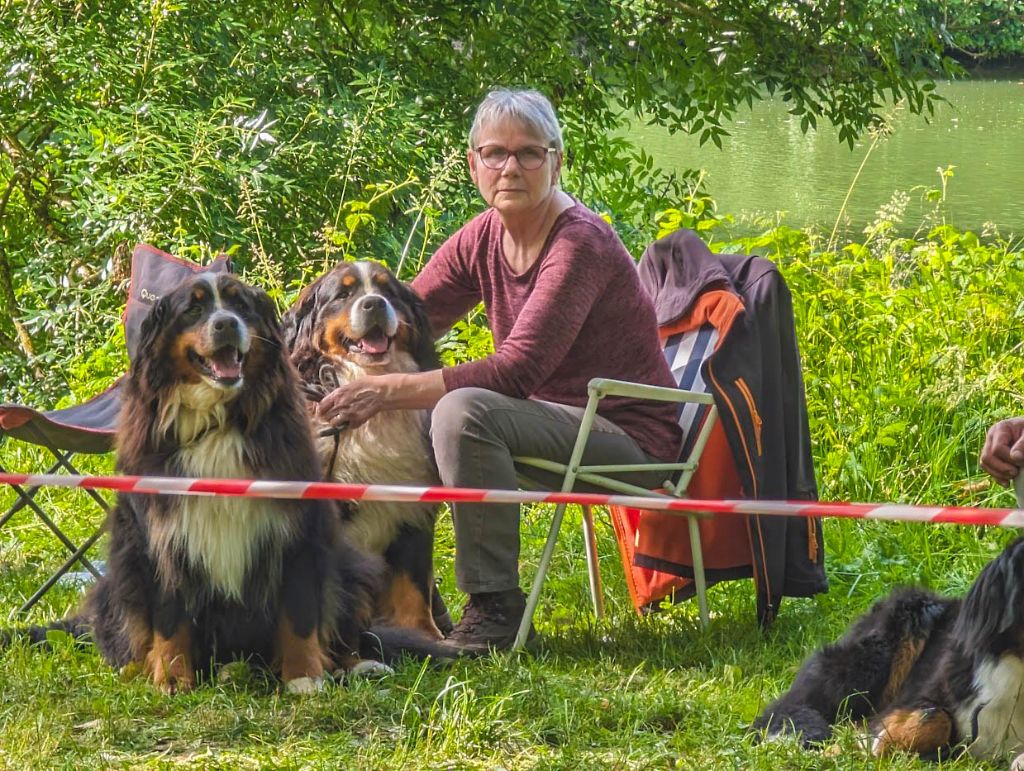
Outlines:
{"label": "tall sunlit weeds right of the jacket, above the striped tape", "polygon": [[825,500],[979,503],[985,431],[1024,413],[1024,244],[947,223],[952,174],[939,173],[941,187],[920,191],[935,208],[913,238],[893,234],[900,206],[883,207],[862,240],[837,247],[784,223],[731,239],[706,197],[660,215],[663,233],[689,226],[714,251],[778,263]]}

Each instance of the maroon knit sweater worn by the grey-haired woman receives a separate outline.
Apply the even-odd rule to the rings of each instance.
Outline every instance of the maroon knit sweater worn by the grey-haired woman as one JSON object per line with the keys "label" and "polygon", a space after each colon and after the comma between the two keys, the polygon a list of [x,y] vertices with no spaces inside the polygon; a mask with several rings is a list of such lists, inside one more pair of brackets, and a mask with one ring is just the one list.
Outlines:
{"label": "maroon knit sweater worn by the grey-haired woman", "polygon": [[[413,289],[435,334],[483,301],[495,353],[442,371],[444,387],[475,386],[518,398],[584,406],[591,378],[671,386],[654,309],[615,231],[583,204],[555,220],[541,255],[516,274],[505,261],[494,209],[441,245]],[[676,405],[608,397],[599,414],[648,454],[675,461]]]}

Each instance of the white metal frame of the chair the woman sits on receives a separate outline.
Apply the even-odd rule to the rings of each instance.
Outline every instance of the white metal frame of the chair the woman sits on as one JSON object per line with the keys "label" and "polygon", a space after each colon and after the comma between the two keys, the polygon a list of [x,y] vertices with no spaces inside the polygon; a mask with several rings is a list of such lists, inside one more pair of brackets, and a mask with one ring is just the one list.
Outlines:
{"label": "white metal frame of the chair the woman sits on", "polygon": [[[696,471],[700,456],[708,437],[711,436],[712,428],[718,419],[718,410],[715,400],[710,393],[699,393],[696,391],[686,391],[680,388],[666,388],[660,386],[643,385],[641,383],[629,383],[622,380],[608,380],[605,378],[594,378],[587,385],[589,398],[587,409],[584,412],[583,422],[580,424],[580,432],[577,434],[575,445],[572,447],[572,455],[567,464],[549,461],[544,458],[516,457],[514,461],[519,466],[527,466],[555,474],[563,474],[562,492],[570,492],[577,480],[589,484],[604,487],[615,492],[626,495],[644,496],[646,498],[683,498],[689,486],[690,479]],[[584,451],[590,438],[590,430],[594,425],[594,418],[597,416],[597,406],[605,396],[628,396],[631,398],[652,399],[655,401],[672,401],[677,403],[698,403],[710,405],[710,411],[703,424],[700,426],[696,441],[690,451],[689,457],[677,463],[653,463],[653,464],[625,464],[625,465],[601,465],[582,466]],[[640,487],[635,484],[624,482],[620,479],[607,476],[608,474],[622,474],[631,471],[654,471],[666,472],[667,479],[663,484],[664,492],[651,490],[647,487]],[[678,473],[679,481],[673,482],[672,477]],[[700,550],[700,529],[697,520],[710,516],[703,512],[672,512],[685,516],[689,525],[690,547],[693,556],[693,583],[696,590],[697,605],[700,611],[700,623],[708,626],[708,596],[707,582],[705,581],[703,555]],[[537,603],[541,597],[541,588],[551,565],[551,556],[555,550],[555,542],[558,540],[558,532],[561,529],[562,519],[565,515],[565,504],[558,504],[555,507],[555,514],[551,520],[551,528],[548,531],[548,541],[544,546],[541,561],[537,567],[537,575],[534,579],[534,586],[529,597],[526,600],[526,609],[522,614],[522,623],[516,634],[513,649],[521,648],[526,642],[529,634],[530,624],[534,619],[534,612],[537,610]],[[594,518],[590,506],[583,507],[583,529],[584,543],[587,552],[587,569],[590,575],[590,594],[594,603],[594,614],[601,618],[604,615],[604,598],[601,591],[601,573],[597,562],[597,539],[594,534]]]}

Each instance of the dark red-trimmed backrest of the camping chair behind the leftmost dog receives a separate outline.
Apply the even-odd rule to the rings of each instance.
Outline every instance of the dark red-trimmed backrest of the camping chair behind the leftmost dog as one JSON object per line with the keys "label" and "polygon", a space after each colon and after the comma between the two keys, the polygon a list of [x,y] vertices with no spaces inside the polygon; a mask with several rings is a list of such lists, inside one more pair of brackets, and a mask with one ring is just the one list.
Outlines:
{"label": "dark red-trimmed backrest of the camping chair behind the leftmost dog", "polygon": [[195,262],[162,252],[148,244],[136,246],[131,255],[128,302],[122,315],[128,358],[135,358],[142,332],[142,320],[161,297],[196,273],[225,273],[230,270],[231,261],[226,254],[217,255],[209,265],[197,265]]}

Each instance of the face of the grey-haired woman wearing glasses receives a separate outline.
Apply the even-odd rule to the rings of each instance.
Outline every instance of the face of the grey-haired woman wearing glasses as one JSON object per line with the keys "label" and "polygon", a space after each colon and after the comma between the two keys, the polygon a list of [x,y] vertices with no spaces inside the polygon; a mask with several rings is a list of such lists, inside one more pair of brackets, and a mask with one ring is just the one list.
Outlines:
{"label": "face of the grey-haired woman wearing glasses", "polygon": [[[528,213],[550,200],[555,194],[562,167],[561,153],[547,153],[548,142],[526,130],[518,121],[503,121],[484,126],[476,137],[476,146],[469,151],[469,173],[483,200],[502,216]],[[508,151],[508,160],[499,169],[484,165],[480,151],[494,153],[495,147]],[[524,169],[516,157],[543,154],[544,162],[537,169]],[[493,164],[494,165],[494,164]],[[527,161],[527,165],[529,165]]]}

